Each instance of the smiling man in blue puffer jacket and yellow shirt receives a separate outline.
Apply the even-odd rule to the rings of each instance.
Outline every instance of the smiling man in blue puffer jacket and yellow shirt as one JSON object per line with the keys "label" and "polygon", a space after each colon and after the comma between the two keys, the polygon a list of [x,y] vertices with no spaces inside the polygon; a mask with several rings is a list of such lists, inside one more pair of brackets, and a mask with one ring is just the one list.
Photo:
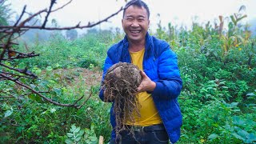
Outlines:
{"label": "smiling man in blue puffer jacket and yellow shirt", "polygon": [[[177,142],[182,126],[182,114],[178,95],[182,90],[177,57],[167,42],[148,34],[150,10],[145,2],[131,0],[123,12],[124,39],[107,52],[103,77],[106,71],[118,62],[131,62],[141,70],[142,83],[138,86],[140,116],[124,125],[133,127],[134,135],[122,131],[116,139],[116,125],[111,108],[110,122],[113,126],[110,143],[169,143]],[[104,91],[99,97],[104,100]]]}

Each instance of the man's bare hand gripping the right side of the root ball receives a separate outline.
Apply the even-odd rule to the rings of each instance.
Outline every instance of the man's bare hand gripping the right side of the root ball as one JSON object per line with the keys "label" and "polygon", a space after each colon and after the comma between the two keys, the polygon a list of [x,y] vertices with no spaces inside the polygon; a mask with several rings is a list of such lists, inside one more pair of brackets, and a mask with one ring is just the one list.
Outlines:
{"label": "man's bare hand gripping the right side of the root ball", "polygon": [[155,82],[151,81],[151,79],[142,70],[139,70],[139,72],[142,75],[142,82],[138,86],[137,92],[153,91],[156,86]]}

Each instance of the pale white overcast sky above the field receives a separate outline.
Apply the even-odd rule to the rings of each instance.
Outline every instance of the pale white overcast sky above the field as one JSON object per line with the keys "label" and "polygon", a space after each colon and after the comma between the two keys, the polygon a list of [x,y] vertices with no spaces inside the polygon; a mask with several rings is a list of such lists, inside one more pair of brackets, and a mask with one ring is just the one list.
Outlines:
{"label": "pale white overcast sky above the field", "polygon": [[[26,11],[35,13],[47,8],[50,0],[11,0],[11,8],[20,14],[23,6]],[[62,6],[69,0],[57,0],[54,8]],[[197,16],[197,21],[214,22],[218,15],[224,17],[238,12],[240,6],[246,6],[247,21],[256,18],[256,0],[145,0],[150,8],[150,27],[154,29],[160,19],[163,26],[168,22],[178,26],[190,26],[192,19]],[[88,22],[97,22],[125,6],[125,0],[73,0],[70,5],[50,15],[55,18],[60,26],[74,26],[81,21],[81,25]],[[102,29],[108,27],[122,27],[122,12],[110,18],[110,22],[101,25]],[[246,21],[244,20],[244,21]]]}

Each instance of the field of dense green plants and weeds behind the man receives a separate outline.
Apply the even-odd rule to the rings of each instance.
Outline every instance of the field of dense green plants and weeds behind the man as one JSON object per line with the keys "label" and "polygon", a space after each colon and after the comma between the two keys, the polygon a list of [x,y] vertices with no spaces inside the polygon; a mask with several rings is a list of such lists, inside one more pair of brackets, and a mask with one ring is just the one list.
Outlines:
{"label": "field of dense green plants and weeds behind the man", "polygon": [[[159,24],[150,32],[178,55],[183,80],[178,143],[256,142],[256,38],[239,20],[230,18],[226,29],[194,22],[191,30]],[[110,103],[102,102],[98,91],[106,51],[123,36],[103,30],[68,40],[57,32],[47,42],[18,46],[40,54],[5,62],[38,74],[23,83],[62,103],[92,96],[80,109],[55,106],[14,82],[0,81],[0,143],[90,144],[100,135],[107,143]]]}

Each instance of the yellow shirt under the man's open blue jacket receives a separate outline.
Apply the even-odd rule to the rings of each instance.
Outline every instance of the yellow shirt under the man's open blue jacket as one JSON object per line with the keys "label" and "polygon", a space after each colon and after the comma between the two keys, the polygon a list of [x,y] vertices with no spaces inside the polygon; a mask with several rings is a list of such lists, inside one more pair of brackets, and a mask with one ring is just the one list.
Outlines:
{"label": "yellow shirt under the man's open blue jacket", "polygon": [[[144,57],[145,49],[140,50],[138,52],[130,52],[131,62],[138,66],[139,70],[143,70],[143,57]],[[146,91],[141,92],[136,95],[138,97],[138,103],[140,106],[139,112],[140,116],[136,112],[134,112],[134,120],[135,123],[130,121],[126,122],[126,125],[135,125],[135,126],[151,126],[154,124],[162,123],[162,119],[158,114],[158,110],[154,105],[153,98],[151,94],[146,93]]]}

